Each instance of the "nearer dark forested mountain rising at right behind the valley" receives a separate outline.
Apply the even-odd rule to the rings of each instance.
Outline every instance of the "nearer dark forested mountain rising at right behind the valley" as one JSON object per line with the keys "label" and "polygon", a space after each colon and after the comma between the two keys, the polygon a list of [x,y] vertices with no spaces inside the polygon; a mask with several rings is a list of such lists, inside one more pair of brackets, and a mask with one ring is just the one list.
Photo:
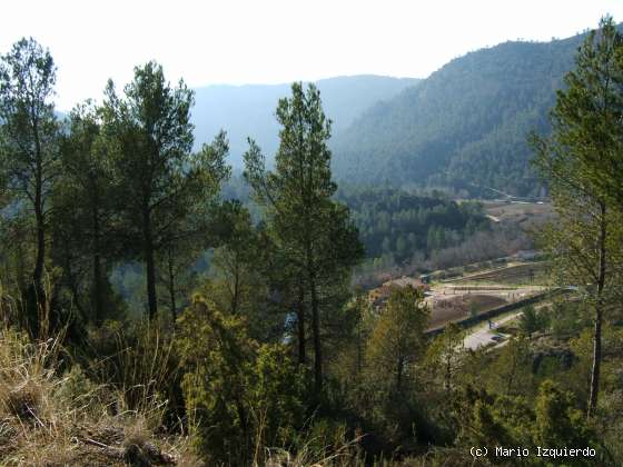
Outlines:
{"label": "nearer dark forested mountain rising at right behind the valley", "polygon": [[526,135],[547,131],[582,40],[505,42],[452,60],[336,135],[337,179],[537,193]]}

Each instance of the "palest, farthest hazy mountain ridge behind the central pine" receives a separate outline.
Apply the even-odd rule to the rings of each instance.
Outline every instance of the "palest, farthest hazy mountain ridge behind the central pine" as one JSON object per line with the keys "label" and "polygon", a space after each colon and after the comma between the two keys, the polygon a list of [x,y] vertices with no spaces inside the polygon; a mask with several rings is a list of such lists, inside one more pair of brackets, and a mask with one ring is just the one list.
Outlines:
{"label": "palest, farthest hazy mountain ridge behind the central pine", "polygon": [[[417,82],[412,78],[362,74],[323,79],[316,85],[336,135],[370,106],[392,99]],[[247,137],[257,141],[267,158],[274,156],[279,131],[275,109],[279,98],[289,96],[290,85],[208,86],[195,91],[192,121],[197,145],[210,141],[224,129],[229,136],[229,161],[234,167],[241,167]]]}

